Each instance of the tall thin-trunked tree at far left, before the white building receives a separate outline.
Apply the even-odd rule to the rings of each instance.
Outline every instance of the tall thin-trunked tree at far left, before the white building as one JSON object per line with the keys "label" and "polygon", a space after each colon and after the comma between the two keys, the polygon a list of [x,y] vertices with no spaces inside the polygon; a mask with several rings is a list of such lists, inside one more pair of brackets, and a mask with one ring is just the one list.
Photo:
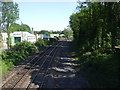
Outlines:
{"label": "tall thin-trunked tree at far left, before the white building", "polygon": [[10,25],[14,23],[18,18],[19,18],[18,4],[13,2],[2,2],[2,25],[3,29],[6,30],[8,34],[7,39],[8,48],[11,47]]}

